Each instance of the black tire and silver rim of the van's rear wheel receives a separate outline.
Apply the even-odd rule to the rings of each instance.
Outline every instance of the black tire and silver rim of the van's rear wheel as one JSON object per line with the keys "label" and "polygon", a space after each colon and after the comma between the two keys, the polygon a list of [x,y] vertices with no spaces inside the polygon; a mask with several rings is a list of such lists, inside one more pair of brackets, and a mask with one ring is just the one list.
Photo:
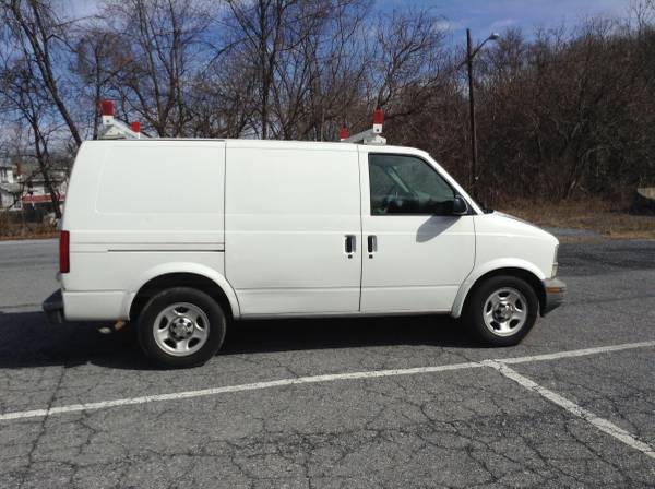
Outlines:
{"label": "black tire and silver rim of the van's rear wheel", "polygon": [[[201,332],[203,332],[203,339],[198,339],[198,344],[204,342],[202,345],[199,345],[194,351],[184,353],[180,351],[177,354],[171,354],[172,347],[167,347],[166,343],[162,343],[155,338],[156,336],[156,327],[159,331],[167,330],[170,325],[166,325],[168,320],[162,318],[159,325],[155,325],[155,322],[160,317],[160,314],[165,314],[167,310],[170,310],[176,305],[190,305],[193,308],[186,309],[187,311],[191,311],[189,315],[193,315],[193,312],[198,312],[200,310],[204,313],[205,319],[200,319],[196,321],[198,324],[202,323],[202,329],[199,327]],[[184,311],[184,307],[178,307],[177,311]],[[187,322],[189,322],[188,320]],[[207,324],[204,324],[204,323]],[[194,323],[191,321],[191,323]],[[162,325],[163,324],[163,325]],[[195,323],[194,323],[195,324]],[[193,332],[195,332],[195,326],[189,325]],[[210,358],[216,355],[216,353],[221,349],[223,345],[223,339],[225,338],[225,330],[226,330],[226,320],[223,310],[218,302],[216,302],[212,297],[207,296],[205,293],[189,288],[189,287],[174,287],[168,288],[166,290],[162,290],[156,294],[151,300],[147,301],[141,314],[139,314],[139,344],[141,348],[145,353],[145,355],[157,366],[165,368],[183,368],[183,367],[192,367],[199,366],[206,362]],[[190,335],[194,333],[189,333]],[[177,337],[176,337],[177,338]],[[187,342],[188,345],[191,344],[191,341],[194,338],[184,338],[189,339]],[[181,341],[184,341],[181,339]],[[177,345],[177,342],[174,339],[166,339],[171,345]],[[162,343],[162,345],[159,344]],[[190,347],[191,348],[191,347]],[[195,348],[195,346],[193,346]],[[167,350],[168,349],[168,350]]]}

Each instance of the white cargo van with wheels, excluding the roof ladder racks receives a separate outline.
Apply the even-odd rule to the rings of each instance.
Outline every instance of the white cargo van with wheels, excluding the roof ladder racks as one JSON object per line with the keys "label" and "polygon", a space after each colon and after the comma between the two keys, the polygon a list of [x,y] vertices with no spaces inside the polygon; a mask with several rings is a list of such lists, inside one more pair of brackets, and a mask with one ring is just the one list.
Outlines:
{"label": "white cargo van with wheels, excluding the roof ladder racks", "polygon": [[255,318],[445,313],[514,345],[563,300],[557,251],[410,147],[87,141],[44,310],[135,322],[168,367],[206,361],[227,324]]}

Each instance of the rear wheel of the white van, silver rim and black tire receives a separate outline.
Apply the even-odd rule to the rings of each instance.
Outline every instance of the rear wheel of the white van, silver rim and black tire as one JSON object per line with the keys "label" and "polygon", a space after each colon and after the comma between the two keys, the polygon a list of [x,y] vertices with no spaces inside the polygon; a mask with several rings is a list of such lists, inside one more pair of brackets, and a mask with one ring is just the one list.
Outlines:
{"label": "rear wheel of the white van, silver rim and black tire", "polygon": [[221,306],[201,290],[175,287],[156,294],[139,318],[139,343],[155,363],[167,368],[202,365],[225,338]]}

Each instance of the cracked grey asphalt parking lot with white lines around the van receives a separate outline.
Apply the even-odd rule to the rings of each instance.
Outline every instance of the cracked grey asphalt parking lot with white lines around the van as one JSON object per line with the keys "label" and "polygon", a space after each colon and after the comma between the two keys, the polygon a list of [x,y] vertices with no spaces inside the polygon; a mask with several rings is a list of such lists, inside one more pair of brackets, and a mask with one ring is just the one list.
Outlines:
{"label": "cracked grey asphalt parking lot with white lines around the van", "polygon": [[56,241],[0,242],[0,487],[655,487],[655,242],[564,243],[517,347],[445,318],[236,323],[201,368],[49,325]]}

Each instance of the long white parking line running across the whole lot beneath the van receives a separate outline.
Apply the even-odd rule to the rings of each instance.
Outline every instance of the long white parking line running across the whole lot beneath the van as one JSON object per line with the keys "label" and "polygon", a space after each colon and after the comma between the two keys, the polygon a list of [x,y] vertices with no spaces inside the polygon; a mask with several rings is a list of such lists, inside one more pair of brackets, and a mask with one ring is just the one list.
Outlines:
{"label": "long white parking line running across the whole lot beneath the van", "polygon": [[146,404],[163,401],[177,401],[191,397],[205,397],[211,395],[226,394],[230,392],[243,392],[243,391],[257,391],[261,389],[281,387],[284,385],[298,385],[309,383],[321,383],[321,382],[334,382],[338,380],[361,380],[361,379],[374,379],[382,377],[395,377],[395,375],[416,375],[420,373],[437,373],[445,372],[451,370],[464,370],[475,369],[480,367],[492,367],[490,362],[496,363],[526,363],[533,361],[544,360],[556,360],[560,358],[572,358],[582,357],[587,355],[597,355],[608,351],[619,351],[634,348],[644,348],[655,346],[653,342],[641,342],[641,343],[624,343],[621,345],[602,346],[597,348],[585,348],[569,351],[559,351],[555,354],[534,355],[527,357],[513,357],[496,360],[483,360],[483,361],[468,361],[464,363],[451,363],[436,367],[417,367],[410,369],[393,369],[393,370],[372,370],[364,372],[349,372],[349,373],[335,373],[326,375],[310,375],[310,377],[298,377],[295,379],[281,379],[267,382],[254,382],[250,384],[240,385],[226,385],[223,387],[203,389],[199,391],[186,391],[186,392],[174,392],[168,394],[155,394],[145,395],[140,397],[128,397],[122,399],[112,401],[100,401],[97,403],[85,403],[85,404],[70,404],[67,406],[55,406],[44,409],[33,410],[20,410],[12,413],[4,413],[0,415],[0,421],[10,419],[24,419],[24,418],[37,418],[44,416],[58,415],[63,413],[74,413],[82,410],[96,410],[109,407],[130,406],[134,404]]}

